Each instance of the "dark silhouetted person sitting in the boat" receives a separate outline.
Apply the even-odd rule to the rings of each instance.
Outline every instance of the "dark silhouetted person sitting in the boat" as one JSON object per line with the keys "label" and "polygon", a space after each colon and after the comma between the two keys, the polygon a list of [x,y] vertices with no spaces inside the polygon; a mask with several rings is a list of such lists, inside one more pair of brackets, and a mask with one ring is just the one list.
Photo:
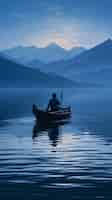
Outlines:
{"label": "dark silhouetted person sitting in the boat", "polygon": [[52,98],[49,100],[47,111],[57,111],[60,108],[60,101],[58,100],[56,93],[52,94]]}

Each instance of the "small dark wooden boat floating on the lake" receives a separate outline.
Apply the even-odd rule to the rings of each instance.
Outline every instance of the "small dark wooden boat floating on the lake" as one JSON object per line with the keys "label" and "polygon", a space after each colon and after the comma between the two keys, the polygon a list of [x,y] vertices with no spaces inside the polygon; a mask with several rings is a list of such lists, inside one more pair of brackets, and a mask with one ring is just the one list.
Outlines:
{"label": "small dark wooden boat floating on the lake", "polygon": [[45,111],[37,108],[37,106],[33,105],[33,114],[36,120],[41,124],[49,124],[53,122],[59,122],[63,120],[68,120],[71,118],[71,108],[63,107],[58,111]]}

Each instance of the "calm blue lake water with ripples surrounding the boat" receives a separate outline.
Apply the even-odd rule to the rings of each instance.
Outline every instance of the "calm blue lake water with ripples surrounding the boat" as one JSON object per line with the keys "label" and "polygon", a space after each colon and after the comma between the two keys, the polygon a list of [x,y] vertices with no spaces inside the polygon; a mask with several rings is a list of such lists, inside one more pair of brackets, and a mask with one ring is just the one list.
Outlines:
{"label": "calm blue lake water with ripples surrounding the boat", "polygon": [[32,103],[45,108],[51,91],[0,94],[1,200],[112,199],[111,89],[65,90],[71,122],[35,135]]}

